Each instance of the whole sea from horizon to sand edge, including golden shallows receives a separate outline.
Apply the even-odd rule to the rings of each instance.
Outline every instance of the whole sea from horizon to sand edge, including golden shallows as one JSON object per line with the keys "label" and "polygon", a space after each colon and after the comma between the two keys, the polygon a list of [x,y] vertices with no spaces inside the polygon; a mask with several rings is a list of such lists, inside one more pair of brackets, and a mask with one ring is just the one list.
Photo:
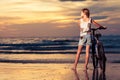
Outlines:
{"label": "whole sea from horizon to sand edge, including golden shallows", "polygon": [[[0,62],[73,63],[79,37],[0,38]],[[120,62],[120,36],[102,36],[108,62]],[[79,62],[84,62],[83,56]]]}

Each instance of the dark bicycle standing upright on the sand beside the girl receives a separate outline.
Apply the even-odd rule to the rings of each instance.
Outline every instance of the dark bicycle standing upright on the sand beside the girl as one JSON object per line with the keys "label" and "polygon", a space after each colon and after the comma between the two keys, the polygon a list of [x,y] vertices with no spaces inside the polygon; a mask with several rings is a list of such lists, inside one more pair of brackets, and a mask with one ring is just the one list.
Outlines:
{"label": "dark bicycle standing upright on the sand beside the girl", "polygon": [[98,63],[100,68],[105,72],[106,68],[106,56],[103,47],[103,43],[99,40],[101,34],[98,33],[98,30],[106,29],[106,28],[92,28],[92,61],[94,69],[98,67]]}

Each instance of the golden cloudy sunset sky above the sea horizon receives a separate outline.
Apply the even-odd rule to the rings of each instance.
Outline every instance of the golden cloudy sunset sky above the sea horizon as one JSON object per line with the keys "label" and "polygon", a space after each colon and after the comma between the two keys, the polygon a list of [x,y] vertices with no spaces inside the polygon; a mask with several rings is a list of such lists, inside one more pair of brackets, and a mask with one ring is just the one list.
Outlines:
{"label": "golden cloudy sunset sky above the sea horizon", "polygon": [[103,35],[120,35],[119,5],[119,0],[1,0],[0,37],[79,36],[82,8],[107,27]]}

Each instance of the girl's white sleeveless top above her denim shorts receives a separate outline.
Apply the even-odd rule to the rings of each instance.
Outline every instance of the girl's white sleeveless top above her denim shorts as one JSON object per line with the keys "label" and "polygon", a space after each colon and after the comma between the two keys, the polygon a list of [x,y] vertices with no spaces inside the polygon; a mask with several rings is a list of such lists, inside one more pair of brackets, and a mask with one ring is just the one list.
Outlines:
{"label": "girl's white sleeveless top above her denim shorts", "polygon": [[91,31],[91,22],[91,18],[89,18],[87,22],[83,21],[83,19],[80,19],[80,28],[83,29],[80,31],[80,36],[85,36]]}

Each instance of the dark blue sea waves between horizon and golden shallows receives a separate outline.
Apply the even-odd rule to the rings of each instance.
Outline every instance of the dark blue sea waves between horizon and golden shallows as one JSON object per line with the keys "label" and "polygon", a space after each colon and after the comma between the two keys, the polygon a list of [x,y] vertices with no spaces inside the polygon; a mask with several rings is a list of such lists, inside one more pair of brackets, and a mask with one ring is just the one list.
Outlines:
{"label": "dark blue sea waves between horizon and golden shallows", "polygon": [[[106,53],[120,53],[120,36],[102,36],[100,40]],[[75,54],[78,41],[79,37],[0,38],[0,53]]]}

